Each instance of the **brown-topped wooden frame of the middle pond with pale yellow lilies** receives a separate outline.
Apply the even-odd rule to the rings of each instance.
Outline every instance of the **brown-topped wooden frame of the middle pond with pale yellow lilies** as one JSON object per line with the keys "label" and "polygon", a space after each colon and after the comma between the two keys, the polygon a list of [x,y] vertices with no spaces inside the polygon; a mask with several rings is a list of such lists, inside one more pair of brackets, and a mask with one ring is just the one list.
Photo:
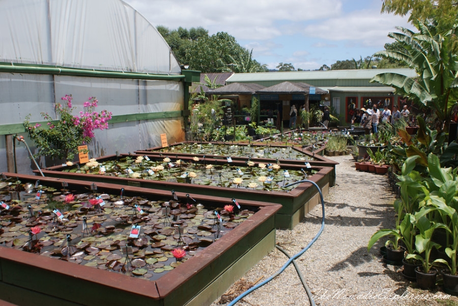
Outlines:
{"label": "brown-topped wooden frame of the middle pond with pale yellow lilies", "polygon": [[[120,155],[119,158],[123,158],[128,155]],[[135,159],[137,155],[130,155]],[[116,158],[116,156],[105,156],[98,158],[98,162],[103,162]],[[190,158],[183,158],[185,161],[193,162]],[[213,160],[217,161],[218,164],[227,163],[224,160]],[[233,162],[233,165],[245,166],[245,163]],[[277,228],[289,228],[292,229],[299,221],[305,217],[305,215],[319,203],[319,194],[316,187],[310,183],[301,183],[290,192],[277,192],[277,191],[259,191],[259,190],[248,190],[248,189],[236,189],[226,187],[215,187],[196,185],[189,183],[179,182],[167,182],[158,180],[147,180],[147,179],[136,179],[136,178],[125,178],[116,176],[106,175],[95,175],[95,174],[83,174],[83,173],[70,173],[62,172],[65,167],[54,166],[46,169],[42,169],[45,176],[61,177],[64,179],[79,179],[91,182],[106,182],[116,183],[125,186],[136,186],[144,188],[153,188],[160,190],[175,190],[183,193],[194,193],[200,195],[218,195],[227,198],[236,198],[252,201],[261,201],[264,203],[276,203],[281,204],[282,208],[277,213],[276,227]],[[283,169],[294,169],[300,170],[304,166],[289,165],[288,167],[282,167]],[[312,167],[312,169],[318,170],[319,172],[308,177],[309,180],[317,183],[322,189],[323,196],[329,191],[330,181],[332,180],[333,169],[331,167]],[[37,170],[36,170],[37,171]],[[37,172],[36,172],[37,173]]]}

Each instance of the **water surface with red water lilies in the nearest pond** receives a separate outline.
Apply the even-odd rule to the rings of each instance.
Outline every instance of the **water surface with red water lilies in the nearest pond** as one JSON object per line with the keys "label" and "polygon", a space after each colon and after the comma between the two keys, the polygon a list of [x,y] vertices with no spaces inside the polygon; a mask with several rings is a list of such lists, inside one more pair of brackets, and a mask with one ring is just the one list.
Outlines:
{"label": "water surface with red water lilies in the nearest pond", "polygon": [[170,198],[81,193],[2,179],[0,246],[156,280],[254,213]]}

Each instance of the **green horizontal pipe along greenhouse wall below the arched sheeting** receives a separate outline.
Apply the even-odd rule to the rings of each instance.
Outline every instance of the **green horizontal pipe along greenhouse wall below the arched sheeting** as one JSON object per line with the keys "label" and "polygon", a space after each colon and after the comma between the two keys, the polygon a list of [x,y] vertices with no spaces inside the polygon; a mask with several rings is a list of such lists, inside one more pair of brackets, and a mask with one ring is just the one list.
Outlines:
{"label": "green horizontal pipe along greenhouse wall below the arched sheeting", "polygon": [[57,67],[33,67],[33,66],[13,66],[0,65],[0,72],[8,73],[33,73],[33,74],[53,74],[69,75],[81,77],[100,77],[100,78],[118,78],[118,79],[136,79],[136,80],[168,80],[181,81],[185,78],[182,74],[162,75],[147,73],[132,73],[118,71],[101,71],[89,69],[57,68]]}

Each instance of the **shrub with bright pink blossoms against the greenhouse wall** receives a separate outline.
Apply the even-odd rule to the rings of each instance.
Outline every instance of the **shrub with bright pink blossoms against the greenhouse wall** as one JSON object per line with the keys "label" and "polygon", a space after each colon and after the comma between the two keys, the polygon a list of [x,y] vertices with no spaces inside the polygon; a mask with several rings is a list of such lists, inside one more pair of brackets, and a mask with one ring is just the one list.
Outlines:
{"label": "shrub with bright pink blossoms against the greenhouse wall", "polygon": [[47,128],[40,124],[30,124],[30,114],[25,117],[24,127],[28,136],[38,147],[38,153],[34,156],[46,156],[50,158],[66,159],[72,161],[78,153],[78,146],[91,142],[94,138],[94,130],[108,129],[108,120],[111,119],[111,112],[103,110],[95,111],[97,99],[90,97],[84,102],[84,111],[79,116],[74,116],[72,111],[72,96],[62,97],[63,104],[56,103],[55,111],[60,119],[52,120],[48,113],[41,113],[47,121]]}

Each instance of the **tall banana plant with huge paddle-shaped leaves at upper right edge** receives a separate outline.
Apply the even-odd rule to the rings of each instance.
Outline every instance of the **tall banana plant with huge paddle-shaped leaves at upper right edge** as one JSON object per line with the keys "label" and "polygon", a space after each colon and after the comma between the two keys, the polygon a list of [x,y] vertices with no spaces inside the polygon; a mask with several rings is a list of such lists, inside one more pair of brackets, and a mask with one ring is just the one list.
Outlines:
{"label": "tall banana plant with huge paddle-shaped leaves at upper right edge", "polygon": [[[458,55],[450,43],[458,34],[458,22],[444,32],[437,22],[427,20],[414,23],[419,32],[397,27],[400,33],[390,33],[403,48],[380,51],[374,56],[393,58],[415,69],[418,76],[407,77],[398,73],[376,75],[371,82],[396,88],[396,93],[417,103],[433,108],[438,118],[438,130],[451,118],[451,109],[458,98]],[[445,126],[448,129],[447,125]]]}

